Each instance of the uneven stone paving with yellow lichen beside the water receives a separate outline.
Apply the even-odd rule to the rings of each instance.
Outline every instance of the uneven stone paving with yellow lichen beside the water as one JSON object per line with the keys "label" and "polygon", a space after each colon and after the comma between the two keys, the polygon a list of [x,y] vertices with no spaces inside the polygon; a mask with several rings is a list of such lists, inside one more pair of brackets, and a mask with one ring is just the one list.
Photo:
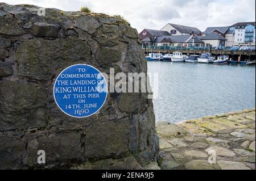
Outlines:
{"label": "uneven stone paving with yellow lichen beside the water", "polygon": [[255,170],[255,109],[160,122],[156,131],[160,169]]}

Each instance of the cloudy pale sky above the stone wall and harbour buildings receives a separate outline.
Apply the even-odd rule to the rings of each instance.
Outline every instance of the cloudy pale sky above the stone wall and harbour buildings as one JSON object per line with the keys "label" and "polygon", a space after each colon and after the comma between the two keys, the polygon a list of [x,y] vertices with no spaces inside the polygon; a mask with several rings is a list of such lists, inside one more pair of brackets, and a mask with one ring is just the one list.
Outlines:
{"label": "cloudy pale sky above the stone wall and harbour buildings", "polygon": [[167,23],[197,27],[231,26],[255,22],[255,0],[7,0],[10,5],[33,4],[64,11],[88,6],[93,12],[121,15],[141,32],[160,30]]}

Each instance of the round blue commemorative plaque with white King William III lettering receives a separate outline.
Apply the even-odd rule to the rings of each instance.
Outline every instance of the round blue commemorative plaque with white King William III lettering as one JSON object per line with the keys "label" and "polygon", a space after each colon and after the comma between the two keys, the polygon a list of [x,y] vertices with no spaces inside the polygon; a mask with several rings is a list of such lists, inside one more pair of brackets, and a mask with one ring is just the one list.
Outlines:
{"label": "round blue commemorative plaque with white King William III lettering", "polygon": [[72,117],[88,117],[98,112],[108,95],[104,76],[90,65],[77,64],[57,77],[53,95],[61,111]]}

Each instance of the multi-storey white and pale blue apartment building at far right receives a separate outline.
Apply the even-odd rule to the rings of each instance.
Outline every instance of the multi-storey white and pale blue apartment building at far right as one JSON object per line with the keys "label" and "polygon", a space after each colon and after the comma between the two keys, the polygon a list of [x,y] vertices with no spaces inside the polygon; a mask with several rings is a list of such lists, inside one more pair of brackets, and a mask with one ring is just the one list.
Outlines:
{"label": "multi-storey white and pale blue apartment building at far right", "polygon": [[233,24],[230,30],[234,31],[234,45],[255,46],[255,22],[240,22]]}

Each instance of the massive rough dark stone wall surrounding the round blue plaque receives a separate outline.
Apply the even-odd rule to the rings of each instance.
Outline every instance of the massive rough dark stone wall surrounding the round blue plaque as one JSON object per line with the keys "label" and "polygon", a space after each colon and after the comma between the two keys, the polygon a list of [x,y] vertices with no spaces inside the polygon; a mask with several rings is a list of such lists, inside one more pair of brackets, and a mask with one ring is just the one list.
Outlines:
{"label": "massive rough dark stone wall surrounding the round blue plaque", "polygon": [[[83,119],[61,112],[52,94],[57,75],[74,64],[146,73],[137,31],[117,16],[56,9],[39,16],[36,8],[0,3],[0,169],[87,162],[111,169],[109,161],[136,169],[154,161],[159,143],[147,93],[109,93],[100,112]],[[38,150],[46,164],[38,164]]]}

